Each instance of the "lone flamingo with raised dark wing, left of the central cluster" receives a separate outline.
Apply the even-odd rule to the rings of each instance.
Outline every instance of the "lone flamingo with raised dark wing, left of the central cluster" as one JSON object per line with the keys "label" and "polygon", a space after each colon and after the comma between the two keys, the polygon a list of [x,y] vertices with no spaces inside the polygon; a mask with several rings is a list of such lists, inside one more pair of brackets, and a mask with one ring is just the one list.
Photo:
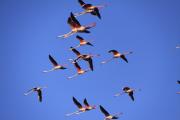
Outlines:
{"label": "lone flamingo with raised dark wing, left of the central cluster", "polygon": [[53,67],[52,69],[50,69],[50,70],[45,70],[45,71],[43,71],[43,72],[47,73],[47,72],[51,72],[51,71],[54,71],[54,70],[67,69],[67,68],[65,68],[64,66],[58,64],[58,63],[56,62],[56,60],[55,60],[51,55],[49,55],[49,60],[50,60],[50,62],[53,64],[54,67]]}

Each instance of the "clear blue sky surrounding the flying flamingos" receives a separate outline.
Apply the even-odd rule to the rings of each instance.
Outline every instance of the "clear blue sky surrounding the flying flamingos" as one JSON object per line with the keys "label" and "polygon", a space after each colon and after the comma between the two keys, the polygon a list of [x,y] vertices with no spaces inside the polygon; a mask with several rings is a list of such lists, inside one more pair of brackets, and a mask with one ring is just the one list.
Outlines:
{"label": "clear blue sky surrounding the flying flamingos", "polygon": [[[180,119],[180,1],[179,0],[85,0],[108,4],[102,20],[91,15],[78,18],[81,24],[97,22],[91,34],[95,47],[84,46],[82,53],[99,53],[94,72],[67,80],[76,70],[67,59],[75,55],[68,49],[78,41],[75,36],[57,39],[69,32],[69,13],[82,11],[77,0],[1,0],[0,1],[0,119],[1,120],[103,120],[99,109],[66,117],[76,110],[72,96],[91,104],[103,105],[110,113],[123,112],[121,120]],[[131,50],[129,63],[110,58],[110,49]],[[67,70],[49,74],[48,54]],[[87,68],[85,62],[80,63]],[[36,94],[23,93],[34,86],[48,86],[43,102]],[[141,88],[135,102],[127,95],[114,98],[123,86]]]}

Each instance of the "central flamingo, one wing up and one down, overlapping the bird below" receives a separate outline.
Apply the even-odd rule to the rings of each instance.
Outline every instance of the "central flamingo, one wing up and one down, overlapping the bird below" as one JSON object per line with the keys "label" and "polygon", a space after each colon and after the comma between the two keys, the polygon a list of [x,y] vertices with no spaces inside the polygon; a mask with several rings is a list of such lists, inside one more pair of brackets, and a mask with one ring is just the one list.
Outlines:
{"label": "central flamingo, one wing up and one down, overlapping the bird below", "polygon": [[70,50],[72,50],[72,51],[76,54],[76,56],[77,56],[77,58],[75,59],[75,61],[81,60],[81,59],[82,59],[82,60],[85,60],[85,61],[88,62],[91,71],[94,70],[94,69],[93,69],[93,60],[92,60],[92,57],[98,57],[98,56],[100,56],[100,55],[81,54],[78,50],[76,50],[76,49],[73,48],[73,47],[70,47]]}

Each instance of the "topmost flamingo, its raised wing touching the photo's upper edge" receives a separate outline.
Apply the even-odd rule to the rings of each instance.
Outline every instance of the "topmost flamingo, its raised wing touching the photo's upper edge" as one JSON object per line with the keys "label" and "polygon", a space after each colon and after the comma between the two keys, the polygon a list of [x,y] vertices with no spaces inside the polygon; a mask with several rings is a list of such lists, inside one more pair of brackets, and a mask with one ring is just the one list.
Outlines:
{"label": "topmost flamingo, its raised wing touching the photo's upper edge", "polygon": [[85,11],[80,12],[80,13],[76,13],[75,14],[76,17],[83,15],[83,14],[90,13],[91,15],[97,16],[99,19],[101,19],[99,9],[103,8],[104,5],[94,6],[92,4],[86,4],[83,0],[78,0],[78,2]]}

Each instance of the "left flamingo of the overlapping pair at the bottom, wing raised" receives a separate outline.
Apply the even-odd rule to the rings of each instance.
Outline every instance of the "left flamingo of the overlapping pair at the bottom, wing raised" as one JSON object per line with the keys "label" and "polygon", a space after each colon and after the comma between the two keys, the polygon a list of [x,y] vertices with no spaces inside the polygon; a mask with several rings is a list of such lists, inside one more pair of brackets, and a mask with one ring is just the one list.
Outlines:
{"label": "left flamingo of the overlapping pair at the bottom, wing raised", "polygon": [[73,97],[73,102],[78,107],[78,110],[73,112],[73,113],[66,114],[66,116],[70,116],[70,115],[73,115],[73,114],[80,114],[80,113],[83,113],[83,112],[86,111],[86,108],[83,107],[81,105],[81,103],[75,97]]}

